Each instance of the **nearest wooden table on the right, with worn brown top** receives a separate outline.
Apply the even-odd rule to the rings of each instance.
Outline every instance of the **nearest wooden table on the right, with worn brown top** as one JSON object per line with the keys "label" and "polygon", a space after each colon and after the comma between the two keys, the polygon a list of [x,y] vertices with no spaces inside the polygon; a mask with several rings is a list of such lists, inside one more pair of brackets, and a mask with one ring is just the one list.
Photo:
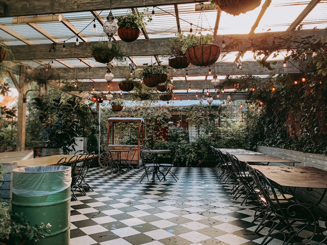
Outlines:
{"label": "nearest wooden table on the right, with worn brown top", "polygon": [[295,196],[296,188],[306,188],[311,191],[314,188],[324,189],[318,205],[327,192],[327,171],[314,167],[291,167],[291,166],[262,166],[254,165],[254,169],[262,172],[268,179],[280,186],[280,191],[285,192],[285,188],[293,188],[292,194]]}

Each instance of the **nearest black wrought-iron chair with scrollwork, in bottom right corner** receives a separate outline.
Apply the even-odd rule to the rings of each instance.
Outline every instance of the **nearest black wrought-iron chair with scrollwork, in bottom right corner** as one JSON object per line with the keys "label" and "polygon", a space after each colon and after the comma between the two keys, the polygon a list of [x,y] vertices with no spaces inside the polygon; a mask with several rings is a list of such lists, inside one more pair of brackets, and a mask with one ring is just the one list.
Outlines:
{"label": "nearest black wrought-iron chair with scrollwork, in bottom right corner", "polygon": [[[271,223],[271,227],[261,242],[262,245],[269,244],[277,236],[279,239],[284,237],[283,245],[317,245],[326,242],[327,236],[323,234],[323,231],[327,227],[327,217],[323,210],[312,204],[281,200],[280,194],[276,192],[272,183],[262,172],[252,169],[251,174],[276,217],[268,221]],[[272,193],[273,199],[270,198],[270,193]],[[324,222],[325,227],[320,227],[319,220]],[[308,235],[307,229],[312,233]]]}

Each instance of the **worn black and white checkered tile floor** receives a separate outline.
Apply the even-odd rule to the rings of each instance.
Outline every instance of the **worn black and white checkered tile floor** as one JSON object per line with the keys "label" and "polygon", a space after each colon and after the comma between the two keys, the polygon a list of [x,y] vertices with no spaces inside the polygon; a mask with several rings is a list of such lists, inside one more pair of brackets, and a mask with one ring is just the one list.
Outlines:
{"label": "worn black and white checkered tile floor", "polygon": [[233,200],[232,185],[219,182],[211,168],[179,168],[178,182],[170,176],[154,184],[140,183],[143,170],[136,171],[89,171],[94,191],[71,202],[71,245],[254,245],[267,234],[253,232],[256,206]]}

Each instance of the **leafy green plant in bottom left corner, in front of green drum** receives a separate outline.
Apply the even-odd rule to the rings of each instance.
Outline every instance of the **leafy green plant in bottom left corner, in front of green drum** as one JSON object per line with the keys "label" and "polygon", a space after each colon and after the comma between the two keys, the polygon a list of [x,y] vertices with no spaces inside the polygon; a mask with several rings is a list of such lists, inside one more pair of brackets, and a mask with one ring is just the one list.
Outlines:
{"label": "leafy green plant in bottom left corner, in front of green drum", "polygon": [[14,213],[6,203],[0,203],[0,244],[24,244],[39,242],[45,234],[51,234],[51,225],[41,222],[32,226],[23,213]]}

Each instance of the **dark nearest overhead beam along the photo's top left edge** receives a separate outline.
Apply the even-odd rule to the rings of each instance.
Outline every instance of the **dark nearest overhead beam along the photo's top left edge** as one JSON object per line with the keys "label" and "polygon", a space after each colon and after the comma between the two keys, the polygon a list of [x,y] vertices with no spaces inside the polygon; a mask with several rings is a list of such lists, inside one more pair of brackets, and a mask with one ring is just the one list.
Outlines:
{"label": "dark nearest overhead beam along the photo's top left edge", "polygon": [[[152,7],[172,4],[187,4],[196,3],[194,0],[122,0],[114,1],[113,8],[138,8],[138,7]],[[54,14],[54,13],[69,13],[82,12],[91,10],[108,10],[110,9],[110,1],[43,1],[43,0],[28,0],[22,2],[20,0],[4,0],[1,2],[5,11],[2,17],[15,17],[25,15],[39,15],[39,14]]]}

